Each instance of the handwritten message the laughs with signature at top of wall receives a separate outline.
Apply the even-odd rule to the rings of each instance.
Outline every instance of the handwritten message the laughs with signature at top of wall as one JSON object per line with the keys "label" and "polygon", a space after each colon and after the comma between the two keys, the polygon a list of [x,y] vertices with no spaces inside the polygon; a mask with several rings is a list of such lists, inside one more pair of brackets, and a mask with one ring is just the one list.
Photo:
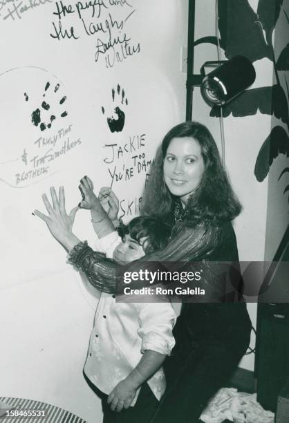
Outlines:
{"label": "handwritten message the laughs with signature at top of wall", "polygon": [[[82,37],[95,39],[95,63],[104,57],[106,68],[123,62],[128,57],[140,53],[140,43],[134,42],[127,32],[127,22],[136,12],[127,1],[76,1],[64,5],[62,0],[55,2],[50,37],[77,40]],[[118,11],[115,17],[114,12]],[[71,19],[70,19],[71,17]],[[76,20],[76,23],[75,23]]]}

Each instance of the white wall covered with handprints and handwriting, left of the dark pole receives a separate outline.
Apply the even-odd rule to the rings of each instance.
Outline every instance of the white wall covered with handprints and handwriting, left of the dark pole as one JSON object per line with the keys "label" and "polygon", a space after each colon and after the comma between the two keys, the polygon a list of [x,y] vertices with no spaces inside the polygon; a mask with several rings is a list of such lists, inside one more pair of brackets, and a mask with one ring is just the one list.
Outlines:
{"label": "white wall covered with handprints and handwriting, left of the dark pole", "polygon": [[[76,2],[63,3],[75,10]],[[185,74],[180,72],[180,50],[187,44],[187,1],[103,3],[107,9],[102,8],[98,18],[97,10],[93,18],[91,10],[83,12],[86,23],[104,22],[109,12],[120,23],[135,10],[124,23],[122,34],[127,33],[131,45],[140,44],[139,53],[122,57],[122,62],[115,62],[111,68],[106,68],[105,55],[95,62],[97,38],[107,41],[107,33],[85,35],[76,11],[62,16],[62,28],[70,30],[73,26],[79,39],[50,37],[53,22],[58,24],[53,15],[55,2],[27,9],[20,17],[15,13],[14,20],[11,16],[5,19],[10,8],[6,3],[0,16],[0,230],[5,245],[0,258],[0,393],[62,406],[88,422],[101,420],[102,415],[100,401],[82,377],[95,301],[66,264],[62,247],[31,212],[35,208],[44,212],[41,194],[48,193],[50,185],[64,185],[66,205],[71,209],[80,201],[77,187],[82,176],[91,176],[99,189],[111,185],[109,170],[122,173],[132,167],[133,177],[126,180],[124,173],[121,181],[113,180],[124,218],[131,218],[138,212],[149,171],[147,166],[139,173],[138,160],[134,164],[133,156],[145,153],[151,160],[164,133],[185,120]],[[116,6],[109,6],[112,3]],[[115,52],[118,50],[116,46]],[[111,48],[109,55],[112,53]],[[41,109],[48,81],[45,100],[57,119],[50,129],[40,131],[32,124],[31,113],[37,107]],[[127,105],[121,99],[113,103],[111,90],[116,90],[118,84],[125,91]],[[67,96],[64,106],[68,115],[64,118],[59,116],[63,109],[57,95]],[[117,105],[125,111],[124,128],[111,132],[106,117]],[[41,109],[46,123],[50,111]],[[55,146],[47,144],[50,137],[53,139],[60,129],[70,125],[71,131],[58,138]],[[137,142],[140,135],[142,146]],[[41,147],[37,144],[39,137],[45,138]],[[70,142],[80,139],[81,143],[49,162],[45,174],[17,181],[15,174],[33,170],[30,160],[35,155],[43,156],[50,148],[50,153],[55,153],[68,137]],[[112,147],[105,145],[118,144],[125,151],[133,137],[136,151],[132,147],[132,151],[120,153],[109,163]],[[89,213],[78,212],[75,232],[91,240]]]}

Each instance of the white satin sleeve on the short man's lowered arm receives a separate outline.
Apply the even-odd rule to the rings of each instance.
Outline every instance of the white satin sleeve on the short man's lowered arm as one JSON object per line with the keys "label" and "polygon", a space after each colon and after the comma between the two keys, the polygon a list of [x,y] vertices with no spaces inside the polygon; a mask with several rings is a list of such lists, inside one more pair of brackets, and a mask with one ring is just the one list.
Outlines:
{"label": "white satin sleeve on the short man's lowered arm", "polygon": [[153,350],[156,353],[170,355],[175,339],[172,333],[176,323],[176,313],[171,303],[138,303],[140,328],[138,335],[142,338],[141,353]]}

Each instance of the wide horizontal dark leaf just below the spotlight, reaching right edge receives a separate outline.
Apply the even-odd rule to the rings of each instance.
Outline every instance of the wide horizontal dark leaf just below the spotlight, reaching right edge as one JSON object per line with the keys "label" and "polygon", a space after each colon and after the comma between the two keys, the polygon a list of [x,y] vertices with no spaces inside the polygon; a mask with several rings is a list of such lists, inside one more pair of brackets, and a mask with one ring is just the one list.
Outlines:
{"label": "wide horizontal dark leaf just below the spotlight, reaching right edge", "polygon": [[[277,84],[261,88],[252,88],[243,91],[230,103],[223,106],[223,117],[227,118],[231,113],[236,118],[255,115],[259,110],[265,115],[274,114],[282,122],[288,121],[288,103],[283,88]],[[221,108],[214,106],[210,116],[220,118]]]}

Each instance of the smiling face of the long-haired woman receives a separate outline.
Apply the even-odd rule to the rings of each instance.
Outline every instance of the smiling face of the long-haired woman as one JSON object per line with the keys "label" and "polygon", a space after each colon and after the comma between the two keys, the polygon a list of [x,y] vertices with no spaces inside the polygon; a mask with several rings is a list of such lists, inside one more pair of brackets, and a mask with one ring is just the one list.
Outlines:
{"label": "smiling face of the long-haired woman", "polygon": [[205,171],[201,146],[192,137],[172,138],[164,160],[164,180],[183,204],[201,182]]}

